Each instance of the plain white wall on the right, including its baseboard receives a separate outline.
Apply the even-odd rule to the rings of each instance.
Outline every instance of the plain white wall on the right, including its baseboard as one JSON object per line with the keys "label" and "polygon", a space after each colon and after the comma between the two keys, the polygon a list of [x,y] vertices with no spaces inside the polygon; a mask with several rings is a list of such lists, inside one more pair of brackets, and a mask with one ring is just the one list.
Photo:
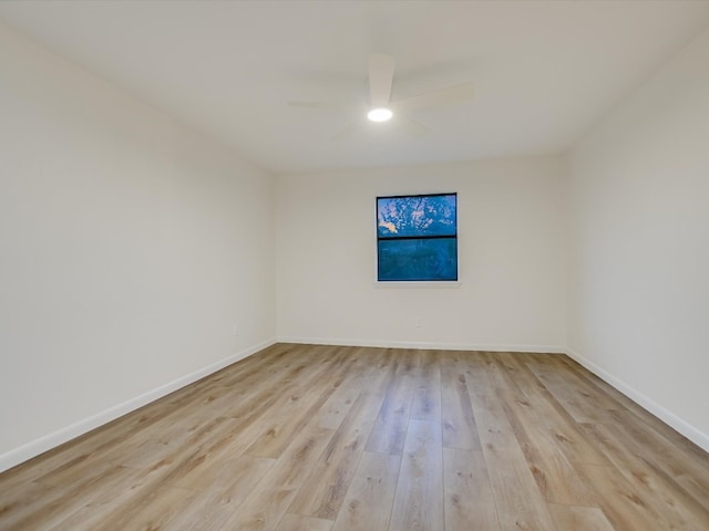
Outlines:
{"label": "plain white wall on the right, including its baseboard", "polygon": [[709,30],[571,165],[572,353],[709,450]]}

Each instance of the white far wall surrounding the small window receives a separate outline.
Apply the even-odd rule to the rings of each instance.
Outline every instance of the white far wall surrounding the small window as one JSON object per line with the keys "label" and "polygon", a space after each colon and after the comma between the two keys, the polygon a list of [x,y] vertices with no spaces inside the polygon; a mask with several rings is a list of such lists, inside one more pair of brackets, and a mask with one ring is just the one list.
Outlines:
{"label": "white far wall surrounding the small window", "polygon": [[[279,339],[562,350],[565,176],[536,157],[278,177]],[[459,194],[461,287],[374,285],[374,198],[435,191]]]}

